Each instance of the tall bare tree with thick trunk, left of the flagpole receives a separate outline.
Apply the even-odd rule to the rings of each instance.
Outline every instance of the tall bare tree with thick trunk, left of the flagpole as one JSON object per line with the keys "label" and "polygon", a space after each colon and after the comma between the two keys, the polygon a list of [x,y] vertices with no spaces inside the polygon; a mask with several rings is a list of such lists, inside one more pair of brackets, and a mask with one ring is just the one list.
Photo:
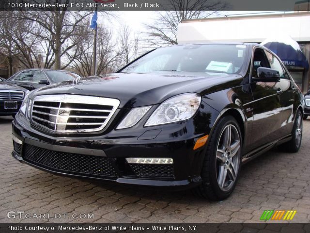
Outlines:
{"label": "tall bare tree with thick trunk, left of the flagpole", "polygon": [[[51,0],[53,1],[53,0]],[[55,0],[54,0],[55,1]],[[70,0],[56,0],[69,3]],[[59,7],[54,11],[27,11],[19,19],[31,20],[40,25],[43,31],[36,34],[45,50],[45,68],[61,69],[69,66],[73,60],[66,61],[62,66],[61,57],[78,45],[78,30],[82,20],[92,12],[68,11],[66,7]],[[72,57],[74,59],[74,57]]]}

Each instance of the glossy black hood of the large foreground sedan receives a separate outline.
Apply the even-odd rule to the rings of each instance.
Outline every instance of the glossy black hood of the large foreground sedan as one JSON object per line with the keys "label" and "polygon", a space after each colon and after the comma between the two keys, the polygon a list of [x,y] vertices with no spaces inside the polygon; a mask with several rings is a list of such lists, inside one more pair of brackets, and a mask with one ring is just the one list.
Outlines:
{"label": "glossy black hood of the large foreground sedan", "polygon": [[[47,85],[34,95],[75,94],[114,98],[120,108],[158,104],[187,92],[206,95],[220,89],[240,85],[241,75],[197,72],[113,73],[81,78],[76,82]],[[223,85],[219,85],[223,83]]]}

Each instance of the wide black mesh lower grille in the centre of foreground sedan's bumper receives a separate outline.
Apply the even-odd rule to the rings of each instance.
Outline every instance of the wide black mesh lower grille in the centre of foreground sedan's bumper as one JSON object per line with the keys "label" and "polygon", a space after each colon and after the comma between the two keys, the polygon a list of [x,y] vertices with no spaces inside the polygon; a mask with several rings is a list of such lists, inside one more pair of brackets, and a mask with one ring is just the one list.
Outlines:
{"label": "wide black mesh lower grille in the centre of foreground sedan's bumper", "polygon": [[24,144],[23,159],[33,165],[71,174],[117,176],[113,161],[106,157],[47,150]]}

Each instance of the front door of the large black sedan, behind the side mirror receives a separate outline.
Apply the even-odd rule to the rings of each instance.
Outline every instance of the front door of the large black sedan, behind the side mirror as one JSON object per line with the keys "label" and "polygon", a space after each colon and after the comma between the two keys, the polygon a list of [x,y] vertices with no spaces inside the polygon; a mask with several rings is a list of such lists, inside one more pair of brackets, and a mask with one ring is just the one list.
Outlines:
{"label": "front door of the large black sedan, behind the side mirror", "polygon": [[[251,77],[257,77],[259,67],[270,67],[269,60],[260,47],[256,47],[252,58]],[[250,150],[268,144],[279,138],[281,128],[282,106],[279,95],[281,90],[279,83],[254,82],[250,79],[253,93],[253,128]]]}

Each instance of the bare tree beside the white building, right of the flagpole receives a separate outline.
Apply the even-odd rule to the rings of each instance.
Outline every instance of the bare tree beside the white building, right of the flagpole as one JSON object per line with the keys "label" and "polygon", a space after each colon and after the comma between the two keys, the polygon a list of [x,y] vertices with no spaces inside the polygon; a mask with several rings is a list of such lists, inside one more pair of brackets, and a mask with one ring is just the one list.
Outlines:
{"label": "bare tree beside the white building, right of the flagpole", "polygon": [[178,24],[184,19],[206,18],[224,9],[226,3],[211,0],[168,0],[170,10],[159,12],[155,23],[146,24],[145,40],[151,46],[176,45]]}

